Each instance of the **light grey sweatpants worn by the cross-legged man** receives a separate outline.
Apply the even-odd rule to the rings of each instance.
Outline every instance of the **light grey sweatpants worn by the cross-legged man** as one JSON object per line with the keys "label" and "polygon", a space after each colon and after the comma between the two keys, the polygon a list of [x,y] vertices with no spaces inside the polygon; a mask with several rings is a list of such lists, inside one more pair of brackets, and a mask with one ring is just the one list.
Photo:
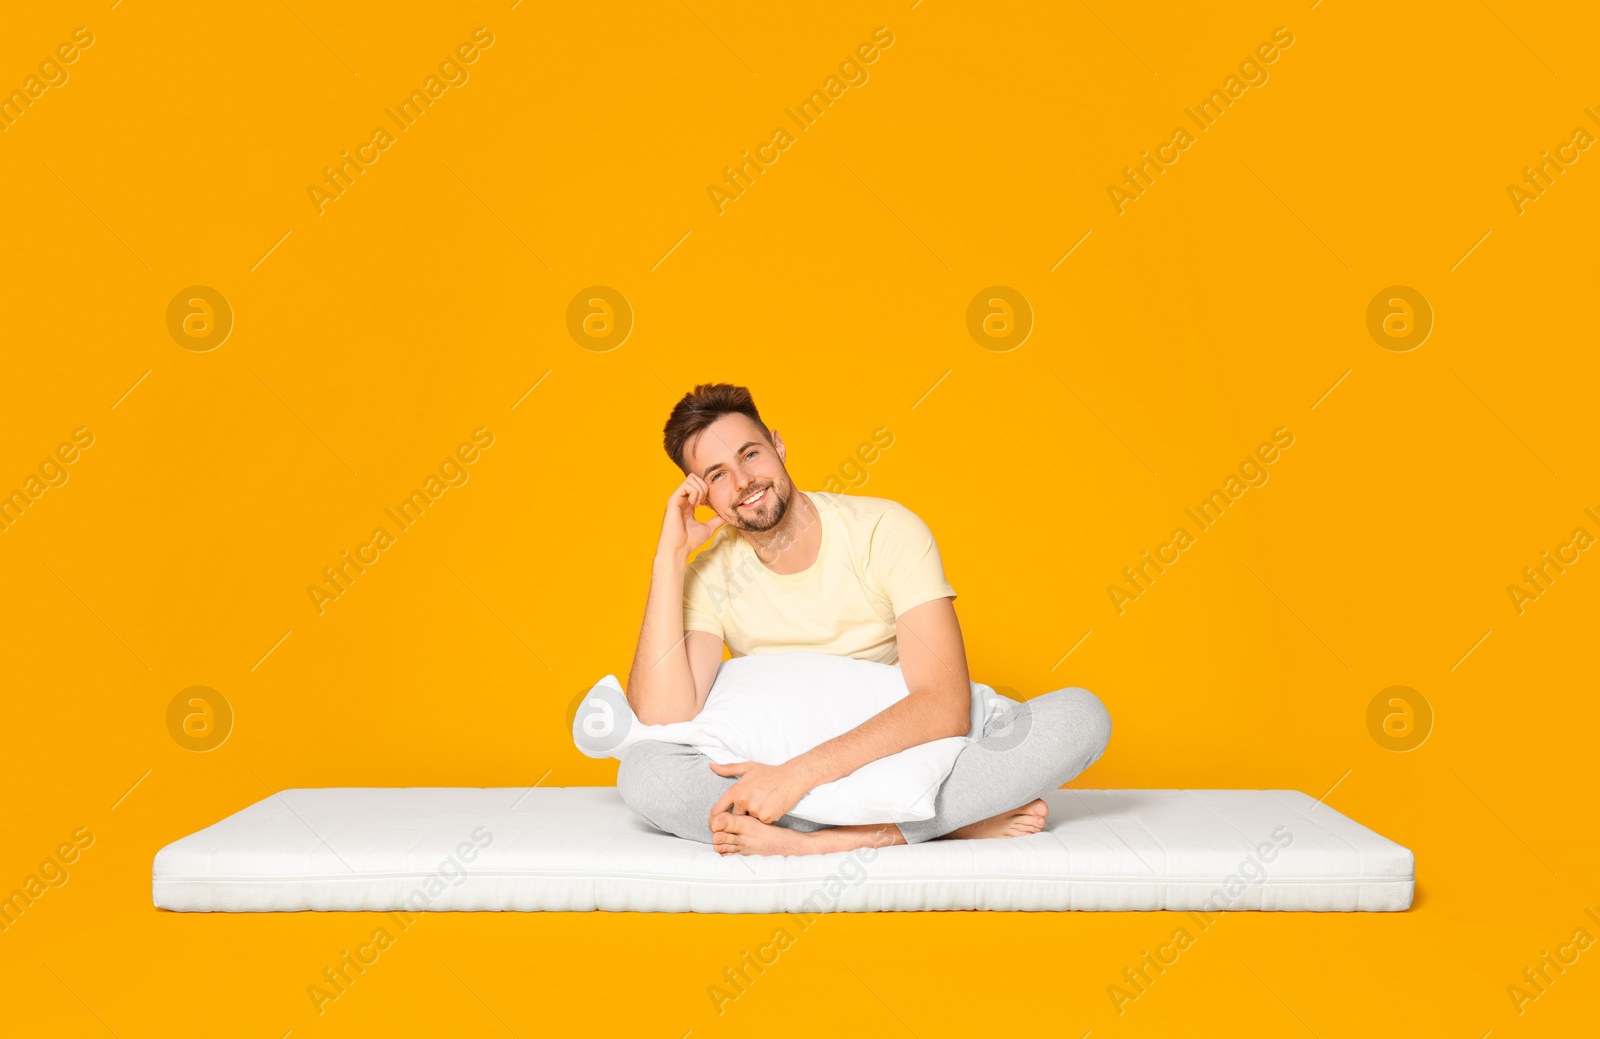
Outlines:
{"label": "light grey sweatpants worn by the cross-legged man", "polygon": [[[1005,698],[1010,700],[1010,698]],[[898,823],[906,844],[933,840],[952,829],[1019,808],[1059,788],[1106,752],[1110,716],[1086,688],[1058,688],[1016,704],[965,746],[934,800],[931,820]],[[734,776],[710,770],[710,759],[691,746],[645,740],[622,756],[618,792],[634,812],[667,832],[710,844],[710,807]],[[826,829],[792,815],[779,826]]]}

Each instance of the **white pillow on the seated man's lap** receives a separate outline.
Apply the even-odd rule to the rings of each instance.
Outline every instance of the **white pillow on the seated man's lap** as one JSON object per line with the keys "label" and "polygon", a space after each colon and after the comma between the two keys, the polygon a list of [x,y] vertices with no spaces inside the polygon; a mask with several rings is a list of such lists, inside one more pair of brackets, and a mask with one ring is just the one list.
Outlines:
{"label": "white pillow on the seated man's lap", "polygon": [[[939,784],[955,756],[1003,724],[1013,701],[971,682],[973,725],[867,762],[811,789],[789,810],[814,823],[906,823],[933,818]],[[683,743],[717,764],[766,765],[805,754],[850,732],[909,693],[898,666],[829,653],[752,653],[722,663],[706,706],[693,720],[643,725],[616,676],[606,676],[573,716],[573,741],[589,757],[616,757],[642,740]]]}

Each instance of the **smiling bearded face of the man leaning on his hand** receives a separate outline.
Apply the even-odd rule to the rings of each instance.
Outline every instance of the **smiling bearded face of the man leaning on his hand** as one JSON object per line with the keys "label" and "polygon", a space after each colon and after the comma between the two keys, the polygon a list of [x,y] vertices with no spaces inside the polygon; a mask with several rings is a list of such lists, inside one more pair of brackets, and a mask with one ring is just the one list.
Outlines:
{"label": "smiling bearded face of the man leaning on his hand", "polygon": [[[795,485],[784,469],[782,437],[768,443],[749,415],[723,415],[683,451],[690,472],[706,480],[712,511],[739,530],[771,530],[789,511]],[[742,504],[758,496],[754,504]]]}

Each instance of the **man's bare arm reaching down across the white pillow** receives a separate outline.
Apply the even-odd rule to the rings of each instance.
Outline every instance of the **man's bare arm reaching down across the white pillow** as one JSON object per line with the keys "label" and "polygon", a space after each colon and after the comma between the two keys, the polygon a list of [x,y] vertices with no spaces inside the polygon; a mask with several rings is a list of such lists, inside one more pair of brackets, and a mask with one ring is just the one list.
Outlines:
{"label": "man's bare arm reaching down across the white pillow", "polygon": [[894,621],[894,632],[910,695],[782,765],[712,765],[717,775],[741,776],[712,805],[712,820],[731,810],[773,823],[810,789],[843,778],[867,762],[971,732],[973,687],[955,604],[944,597],[912,607]]}

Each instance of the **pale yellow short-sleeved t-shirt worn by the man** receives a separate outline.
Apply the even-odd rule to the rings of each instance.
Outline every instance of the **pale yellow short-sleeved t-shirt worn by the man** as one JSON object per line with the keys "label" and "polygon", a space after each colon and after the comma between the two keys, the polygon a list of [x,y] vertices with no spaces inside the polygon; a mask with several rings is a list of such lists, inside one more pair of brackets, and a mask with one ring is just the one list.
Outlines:
{"label": "pale yellow short-sleeved t-shirt worn by the man", "polygon": [[822,524],[816,562],[773,573],[725,525],[683,575],[683,628],[720,637],[733,656],[810,650],[898,664],[894,620],[955,597],[933,532],[888,498],[805,493]]}

